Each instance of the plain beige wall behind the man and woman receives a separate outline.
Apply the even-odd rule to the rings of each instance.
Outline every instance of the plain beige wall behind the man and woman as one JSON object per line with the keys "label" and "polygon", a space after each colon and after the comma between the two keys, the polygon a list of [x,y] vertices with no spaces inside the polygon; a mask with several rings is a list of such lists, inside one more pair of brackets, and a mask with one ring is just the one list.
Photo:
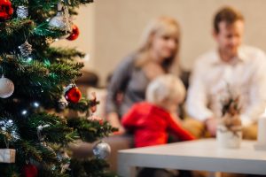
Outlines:
{"label": "plain beige wall behind the man and woman", "polygon": [[265,0],[95,0],[82,6],[74,19],[80,29],[79,38],[55,44],[84,51],[84,70],[96,73],[98,85],[105,86],[107,75],[137,49],[146,24],[167,15],[176,18],[181,26],[181,65],[189,71],[195,58],[215,48],[212,19],[223,5],[231,5],[244,14],[244,43],[266,51]]}

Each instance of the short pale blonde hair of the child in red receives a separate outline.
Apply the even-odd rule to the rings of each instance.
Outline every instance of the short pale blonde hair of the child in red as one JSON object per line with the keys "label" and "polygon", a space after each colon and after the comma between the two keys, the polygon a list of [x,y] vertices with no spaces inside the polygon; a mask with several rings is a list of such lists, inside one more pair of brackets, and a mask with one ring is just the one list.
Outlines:
{"label": "short pale blonde hair of the child in red", "polygon": [[184,96],[184,84],[173,74],[159,76],[146,89],[146,100],[152,104],[162,104],[165,101],[181,104]]}

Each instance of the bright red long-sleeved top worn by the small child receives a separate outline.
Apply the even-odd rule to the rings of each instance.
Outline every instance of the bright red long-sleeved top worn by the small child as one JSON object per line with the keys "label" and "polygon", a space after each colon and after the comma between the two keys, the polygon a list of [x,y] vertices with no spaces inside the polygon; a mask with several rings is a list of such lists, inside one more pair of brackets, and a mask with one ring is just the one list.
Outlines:
{"label": "bright red long-sleeved top worn by the small child", "polygon": [[134,104],[121,122],[124,127],[133,130],[136,147],[167,143],[168,130],[182,141],[195,139],[166,110],[146,102]]}

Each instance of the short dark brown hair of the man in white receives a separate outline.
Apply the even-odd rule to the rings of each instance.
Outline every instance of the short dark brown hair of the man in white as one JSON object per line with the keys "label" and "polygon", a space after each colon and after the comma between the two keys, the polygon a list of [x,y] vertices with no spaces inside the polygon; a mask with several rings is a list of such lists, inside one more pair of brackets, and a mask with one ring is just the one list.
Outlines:
{"label": "short dark brown hair of the man in white", "polygon": [[244,21],[244,17],[241,12],[229,6],[223,7],[215,15],[215,19],[214,19],[215,33],[219,33],[220,31],[219,24],[222,21],[225,21],[227,25],[231,25],[238,20]]}

